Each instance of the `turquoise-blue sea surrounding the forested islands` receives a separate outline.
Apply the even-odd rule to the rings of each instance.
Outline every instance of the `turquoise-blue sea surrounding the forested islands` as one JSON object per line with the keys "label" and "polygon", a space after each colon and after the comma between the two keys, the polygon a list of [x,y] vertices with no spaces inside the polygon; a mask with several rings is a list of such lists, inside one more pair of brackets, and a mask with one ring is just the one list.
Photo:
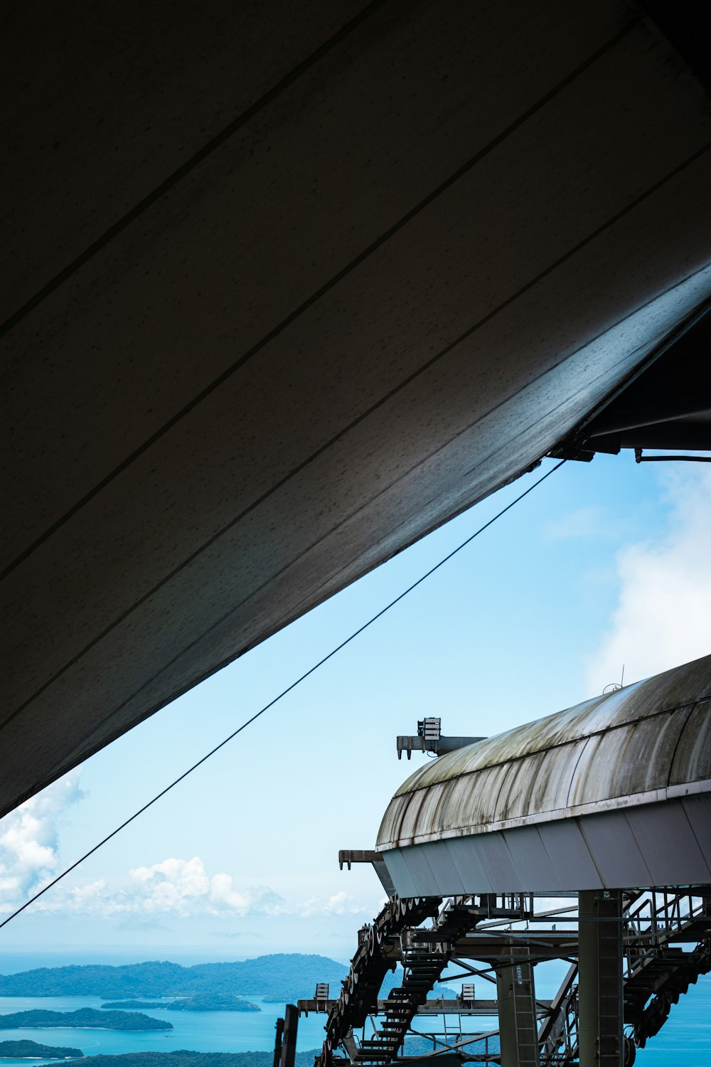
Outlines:
{"label": "turquoise-blue sea surrounding the forested islands", "polygon": [[[168,958],[172,955],[165,954]],[[130,960],[136,962],[139,957]],[[0,956],[0,973],[9,974],[16,971],[30,970],[35,967],[59,967],[76,962],[126,964],[129,960],[122,956],[113,958],[106,956],[91,959],[75,956],[62,957],[56,954],[46,957],[44,954],[12,954]],[[190,966],[193,962],[205,962],[205,957],[195,955],[175,957],[175,962]],[[547,970],[544,971],[543,967]],[[550,998],[560,978],[558,965],[543,965],[536,980],[537,996]],[[446,981],[446,980],[445,980]],[[305,990],[304,996],[310,990]],[[277,1018],[284,1015],[284,1004],[264,1003],[258,996],[241,994],[244,1000],[257,1004],[260,1012],[167,1012],[160,1009],[147,1010],[145,1014],[157,1019],[165,1019],[173,1023],[171,1031],[127,1032],[113,1030],[78,1030],[58,1028],[51,1030],[3,1030],[0,1040],[30,1039],[43,1045],[71,1046],[81,1049],[85,1055],[117,1055],[123,1052],[171,1052],[177,1049],[190,1049],[196,1052],[258,1052],[272,1051]],[[490,996],[484,989],[478,990],[478,996]],[[149,1000],[153,1000],[149,998]],[[26,1012],[33,1008],[49,1008],[54,1012],[74,1012],[79,1007],[100,1007],[103,1000],[99,997],[0,997],[0,1015],[11,1012]],[[167,1003],[167,1001],[166,1001]],[[443,1020],[417,1020],[422,1032],[443,1030]],[[310,1014],[298,1021],[297,1044],[300,1051],[320,1049],[323,1041],[323,1024],[325,1016]],[[447,1029],[452,1029],[452,1018],[447,1020]],[[465,1024],[467,1020],[463,1020]],[[496,1020],[480,1018],[470,1020],[480,1032],[496,1029]],[[467,1029],[469,1029],[467,1026]],[[47,1061],[32,1061],[32,1065]],[[54,1063],[56,1063],[54,1061]],[[639,1067],[711,1067],[711,975],[699,978],[689,993],[682,997],[672,1008],[672,1014],[660,1031],[651,1038],[645,1049],[637,1051]],[[0,1060],[0,1067],[31,1067],[27,1060]]]}

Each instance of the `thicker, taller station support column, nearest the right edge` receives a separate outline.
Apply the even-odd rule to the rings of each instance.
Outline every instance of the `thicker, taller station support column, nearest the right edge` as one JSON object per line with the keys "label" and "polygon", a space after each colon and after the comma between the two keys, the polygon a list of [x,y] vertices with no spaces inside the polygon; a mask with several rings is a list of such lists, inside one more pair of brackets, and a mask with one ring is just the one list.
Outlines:
{"label": "thicker, taller station support column, nearest the right edge", "polygon": [[621,893],[589,890],[578,901],[580,1067],[623,1067]]}

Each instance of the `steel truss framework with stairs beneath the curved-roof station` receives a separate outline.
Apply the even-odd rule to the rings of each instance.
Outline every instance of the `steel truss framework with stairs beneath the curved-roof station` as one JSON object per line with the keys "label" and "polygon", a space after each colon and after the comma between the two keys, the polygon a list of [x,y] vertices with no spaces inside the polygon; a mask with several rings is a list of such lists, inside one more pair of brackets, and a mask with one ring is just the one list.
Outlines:
{"label": "steel truss framework with stairs beneath the curved-roof station", "polygon": [[[434,1060],[456,1052],[503,1067],[631,1065],[689,986],[711,971],[711,887],[596,891],[556,903],[539,894],[390,897],[358,931],[338,999],[298,1001],[300,1014],[328,1016],[317,1067],[386,1067],[415,1033],[430,1038]],[[569,967],[553,1000],[539,1000],[535,966],[551,959]],[[402,984],[378,998],[398,964]],[[448,981],[491,982],[496,998],[427,1000],[446,969]],[[443,1029],[415,1031],[416,1016],[437,1017]],[[476,1016],[498,1016],[498,1029],[470,1030]]]}

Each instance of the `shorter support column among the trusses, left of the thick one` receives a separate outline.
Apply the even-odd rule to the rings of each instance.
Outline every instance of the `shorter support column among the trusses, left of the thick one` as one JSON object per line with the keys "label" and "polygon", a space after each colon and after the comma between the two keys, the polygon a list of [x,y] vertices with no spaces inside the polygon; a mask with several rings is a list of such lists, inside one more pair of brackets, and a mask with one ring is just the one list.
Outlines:
{"label": "shorter support column among the trusses, left of the thick one", "polygon": [[528,949],[514,951],[510,965],[497,967],[501,1067],[538,1067],[535,985],[529,955]]}

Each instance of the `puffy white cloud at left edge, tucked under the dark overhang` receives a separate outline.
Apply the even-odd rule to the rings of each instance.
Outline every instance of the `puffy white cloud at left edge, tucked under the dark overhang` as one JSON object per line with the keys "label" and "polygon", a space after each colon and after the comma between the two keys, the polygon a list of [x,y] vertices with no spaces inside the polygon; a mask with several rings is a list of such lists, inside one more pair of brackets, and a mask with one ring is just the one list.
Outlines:
{"label": "puffy white cloud at left edge, tucked under the dark overhang", "polygon": [[84,794],[69,771],[0,819],[0,911],[22,903],[56,873],[58,816]]}

